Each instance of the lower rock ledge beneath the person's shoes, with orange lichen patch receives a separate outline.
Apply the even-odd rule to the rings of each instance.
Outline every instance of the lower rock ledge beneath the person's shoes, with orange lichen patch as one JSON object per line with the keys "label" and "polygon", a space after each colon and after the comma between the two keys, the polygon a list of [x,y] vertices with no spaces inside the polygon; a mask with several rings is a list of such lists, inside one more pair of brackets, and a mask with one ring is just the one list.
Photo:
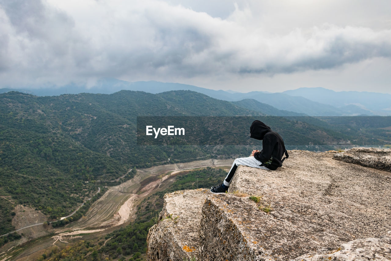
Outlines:
{"label": "lower rock ledge beneath the person's shoes, with orange lichen patch", "polygon": [[209,190],[181,190],[164,195],[158,224],[150,228],[147,260],[191,260],[198,257],[201,209]]}

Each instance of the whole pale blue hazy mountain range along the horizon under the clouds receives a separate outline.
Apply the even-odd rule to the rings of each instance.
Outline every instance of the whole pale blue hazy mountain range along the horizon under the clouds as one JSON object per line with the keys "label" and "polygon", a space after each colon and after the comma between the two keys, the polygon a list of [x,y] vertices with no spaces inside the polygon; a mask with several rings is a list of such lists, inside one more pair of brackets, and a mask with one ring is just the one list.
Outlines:
{"label": "whole pale blue hazy mountain range along the horizon under the clouds", "polygon": [[[391,100],[387,100],[389,99],[388,97],[391,96],[389,94],[384,95],[373,92],[334,92],[324,88],[300,88],[283,93],[262,91],[242,93],[222,90],[216,91],[181,83],[163,83],[155,81],[126,82],[114,78],[102,78],[90,88],[86,87],[86,85],[68,84],[57,89],[55,87],[34,89],[31,90],[31,92],[38,96],[56,96],[65,93],[79,94],[82,92],[111,94],[120,90],[145,91],[152,94],[166,91],[190,90],[224,101],[253,99],[280,110],[279,112],[275,112],[276,115],[281,115],[283,111],[288,111],[287,115],[292,115],[292,112],[296,112],[298,114],[310,116],[391,115],[391,109],[385,109],[391,107]],[[366,94],[368,94],[368,98],[365,100],[363,97],[366,96]],[[380,99],[383,95],[384,97]],[[355,99],[355,97],[357,99]],[[378,105],[375,104],[377,99],[379,99]],[[262,108],[268,110],[265,106]]]}

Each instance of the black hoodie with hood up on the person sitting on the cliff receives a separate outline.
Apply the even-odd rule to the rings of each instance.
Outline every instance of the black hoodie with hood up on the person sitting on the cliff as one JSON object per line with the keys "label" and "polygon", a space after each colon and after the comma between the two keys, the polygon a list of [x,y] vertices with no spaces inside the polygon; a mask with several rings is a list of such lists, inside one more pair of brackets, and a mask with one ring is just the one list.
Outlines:
{"label": "black hoodie with hood up on the person sitting on the cliff", "polygon": [[282,156],[285,153],[286,158],[289,157],[285,150],[284,141],[280,134],[274,132],[262,121],[253,121],[250,127],[251,138],[262,140],[261,152],[256,152],[254,157],[262,162],[262,166],[271,170],[276,170],[282,166]]}

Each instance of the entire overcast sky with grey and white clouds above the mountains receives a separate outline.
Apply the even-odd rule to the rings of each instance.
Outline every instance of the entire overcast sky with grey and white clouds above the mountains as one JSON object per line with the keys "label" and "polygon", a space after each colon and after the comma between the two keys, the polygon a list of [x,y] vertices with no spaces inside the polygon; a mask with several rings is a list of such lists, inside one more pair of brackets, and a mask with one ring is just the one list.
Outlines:
{"label": "entire overcast sky with grey and white clouds above the mountains", "polygon": [[389,0],[0,0],[0,87],[391,93]]}

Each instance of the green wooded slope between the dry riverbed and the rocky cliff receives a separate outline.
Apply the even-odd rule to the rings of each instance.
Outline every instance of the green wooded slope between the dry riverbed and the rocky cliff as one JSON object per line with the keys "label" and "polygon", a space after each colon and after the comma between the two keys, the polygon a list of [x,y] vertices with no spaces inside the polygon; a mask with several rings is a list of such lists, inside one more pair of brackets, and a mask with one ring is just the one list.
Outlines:
{"label": "green wooded slope between the dry riverbed and the rocky cliff", "polygon": [[[136,213],[137,219],[131,224],[107,234],[104,238],[87,241],[80,240],[78,243],[68,245],[62,250],[53,248],[46,251],[38,260],[55,261],[67,258],[66,260],[95,261],[114,259],[141,261],[140,256],[145,254],[147,247],[148,230],[154,223],[158,222],[159,212],[163,207],[164,194],[197,187],[209,188],[221,182],[221,178],[224,176],[226,176],[226,171],[223,169],[212,169],[210,167],[179,175],[169,188],[152,194],[140,203]],[[175,218],[178,217],[172,217],[174,220]]]}

